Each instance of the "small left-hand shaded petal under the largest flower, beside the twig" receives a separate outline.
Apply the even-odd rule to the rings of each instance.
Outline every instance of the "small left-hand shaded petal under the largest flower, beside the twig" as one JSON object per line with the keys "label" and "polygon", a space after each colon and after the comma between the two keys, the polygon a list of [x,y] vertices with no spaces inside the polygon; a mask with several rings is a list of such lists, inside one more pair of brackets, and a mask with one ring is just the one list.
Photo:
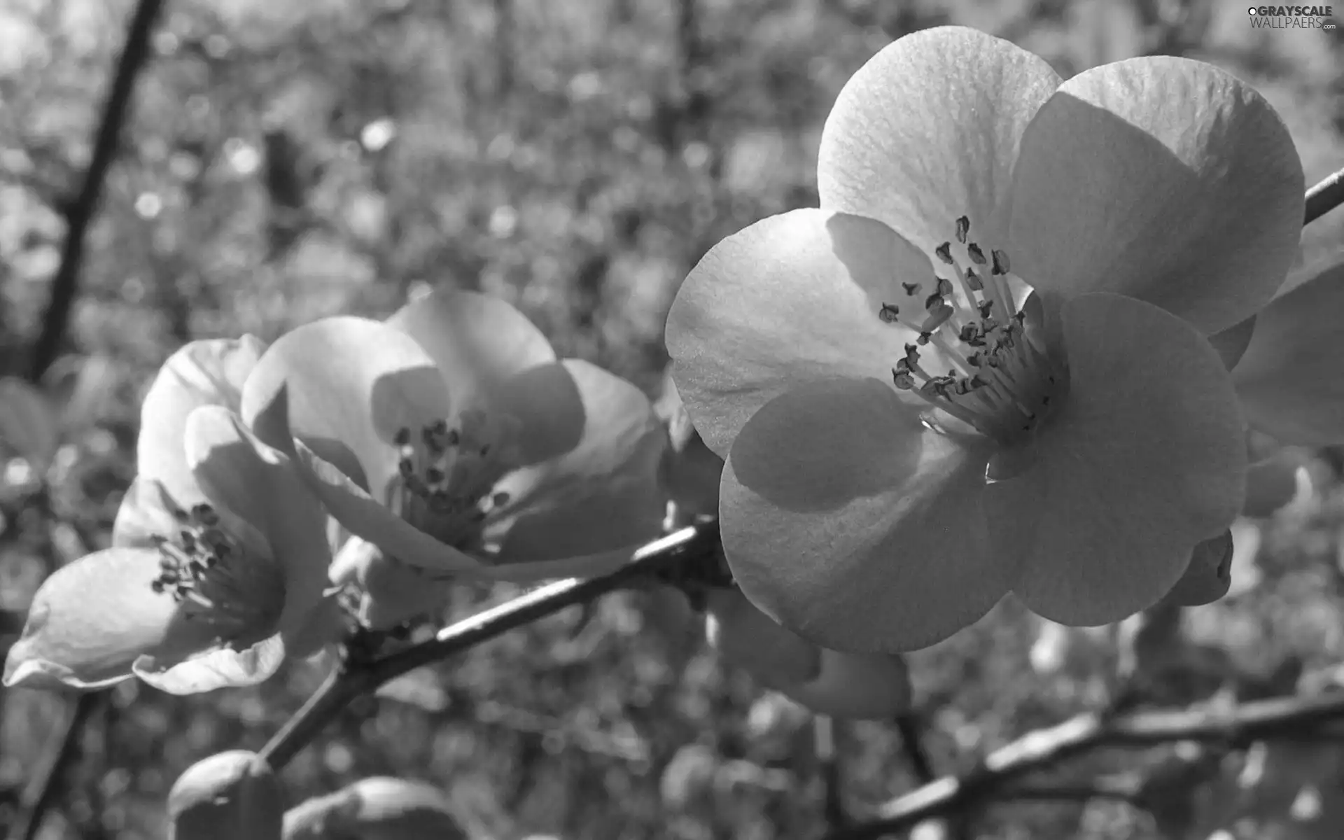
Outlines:
{"label": "small left-hand shaded petal under the largest flower, beside the twig", "polygon": [[710,593],[706,638],[724,660],[771,688],[821,673],[821,648],[781,628],[735,589]]}

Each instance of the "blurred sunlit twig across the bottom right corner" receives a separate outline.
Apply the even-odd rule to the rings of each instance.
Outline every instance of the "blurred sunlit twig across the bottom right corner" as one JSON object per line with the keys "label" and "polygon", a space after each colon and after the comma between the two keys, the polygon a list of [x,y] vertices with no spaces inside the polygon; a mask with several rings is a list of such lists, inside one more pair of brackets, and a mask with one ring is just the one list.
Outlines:
{"label": "blurred sunlit twig across the bottom right corner", "polygon": [[1099,747],[1142,747],[1175,741],[1210,741],[1241,747],[1339,718],[1344,718],[1344,692],[1258,700],[1230,711],[1145,711],[1109,719],[1079,715],[1028,732],[986,755],[969,773],[948,775],[900,796],[883,805],[876,820],[832,832],[825,840],[875,840],[930,817],[996,798],[1000,792],[1008,797],[1013,797],[1013,790],[1031,792],[1032,788],[1013,789],[1007,785],[1025,773]]}

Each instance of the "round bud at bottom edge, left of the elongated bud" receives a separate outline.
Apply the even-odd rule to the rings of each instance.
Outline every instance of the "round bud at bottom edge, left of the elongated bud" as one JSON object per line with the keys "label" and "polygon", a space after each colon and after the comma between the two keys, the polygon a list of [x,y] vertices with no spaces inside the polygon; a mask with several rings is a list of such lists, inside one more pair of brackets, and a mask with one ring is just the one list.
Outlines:
{"label": "round bud at bottom edge, left of the elongated bud", "polygon": [[254,753],[198,761],[168,793],[169,840],[280,840],[280,780]]}

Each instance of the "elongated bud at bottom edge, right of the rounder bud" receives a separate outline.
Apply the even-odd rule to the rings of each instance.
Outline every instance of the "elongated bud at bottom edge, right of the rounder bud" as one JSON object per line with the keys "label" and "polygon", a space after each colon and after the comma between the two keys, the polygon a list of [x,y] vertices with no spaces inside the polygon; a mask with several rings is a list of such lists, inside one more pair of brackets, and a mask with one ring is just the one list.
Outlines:
{"label": "elongated bud at bottom edge, right of the rounder bud", "polygon": [[360,780],[285,813],[285,840],[466,840],[448,796],[388,775]]}

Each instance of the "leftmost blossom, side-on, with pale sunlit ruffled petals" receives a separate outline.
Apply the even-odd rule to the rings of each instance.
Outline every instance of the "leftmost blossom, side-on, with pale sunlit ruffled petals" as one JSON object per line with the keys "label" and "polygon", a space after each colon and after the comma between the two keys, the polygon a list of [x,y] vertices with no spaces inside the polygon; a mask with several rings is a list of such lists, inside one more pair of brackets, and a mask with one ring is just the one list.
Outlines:
{"label": "leftmost blossom, side-on, with pale sunlit ruffled petals", "polygon": [[194,341],[164,363],[113,547],[38,589],[5,685],[87,689],[136,675],[191,694],[258,683],[327,640],[327,516],[235,414],[262,349],[251,336]]}

